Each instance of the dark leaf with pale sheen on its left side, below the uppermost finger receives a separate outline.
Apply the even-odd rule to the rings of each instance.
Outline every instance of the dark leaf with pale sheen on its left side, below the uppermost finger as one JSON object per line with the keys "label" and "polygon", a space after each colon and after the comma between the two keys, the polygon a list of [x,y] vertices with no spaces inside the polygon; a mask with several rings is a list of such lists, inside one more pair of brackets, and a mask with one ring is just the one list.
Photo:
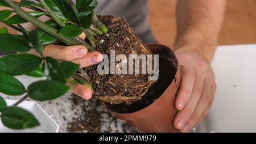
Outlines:
{"label": "dark leaf with pale sheen on its left side, below the uppermost finger", "polygon": [[64,71],[55,59],[46,57],[43,68],[44,74],[49,80],[66,83]]}

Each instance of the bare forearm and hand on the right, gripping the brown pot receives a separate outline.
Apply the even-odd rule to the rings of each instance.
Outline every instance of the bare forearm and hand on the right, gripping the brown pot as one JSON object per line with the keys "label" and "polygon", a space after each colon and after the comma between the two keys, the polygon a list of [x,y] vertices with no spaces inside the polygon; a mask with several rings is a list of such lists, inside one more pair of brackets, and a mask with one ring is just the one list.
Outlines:
{"label": "bare forearm and hand on the right, gripping the brown pot", "polygon": [[174,125],[189,132],[207,115],[213,103],[216,83],[210,62],[222,26],[225,0],[177,1],[175,53],[182,79],[175,107]]}

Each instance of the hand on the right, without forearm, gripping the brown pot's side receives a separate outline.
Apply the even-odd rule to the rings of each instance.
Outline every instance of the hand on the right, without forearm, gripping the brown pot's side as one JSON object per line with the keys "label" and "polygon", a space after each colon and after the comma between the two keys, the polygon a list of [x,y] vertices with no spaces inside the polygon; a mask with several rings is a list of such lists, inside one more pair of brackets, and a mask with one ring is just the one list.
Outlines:
{"label": "hand on the right, without forearm, gripping the brown pot's side", "polygon": [[174,125],[180,132],[189,132],[209,112],[216,83],[212,68],[203,54],[188,48],[180,48],[175,54],[181,66],[182,78],[175,101],[179,112]]}

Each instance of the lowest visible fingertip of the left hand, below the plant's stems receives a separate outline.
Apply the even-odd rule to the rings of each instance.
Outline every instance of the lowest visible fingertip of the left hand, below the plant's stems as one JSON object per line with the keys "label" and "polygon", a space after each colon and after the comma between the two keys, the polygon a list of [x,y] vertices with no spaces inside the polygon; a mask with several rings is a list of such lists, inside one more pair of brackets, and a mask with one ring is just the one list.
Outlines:
{"label": "lowest visible fingertip of the left hand, below the plant's stems", "polygon": [[70,92],[73,92],[76,95],[79,95],[81,98],[89,100],[92,98],[92,90],[90,88],[75,83],[67,83],[68,86],[71,87]]}

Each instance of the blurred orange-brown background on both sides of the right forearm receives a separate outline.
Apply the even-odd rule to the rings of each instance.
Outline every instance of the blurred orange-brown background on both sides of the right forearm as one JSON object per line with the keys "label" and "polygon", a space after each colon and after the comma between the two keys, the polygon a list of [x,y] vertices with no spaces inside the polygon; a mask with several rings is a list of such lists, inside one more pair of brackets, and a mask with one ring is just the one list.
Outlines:
{"label": "blurred orange-brown background on both sides of the right forearm", "polygon": [[[150,23],[156,39],[172,47],[176,35],[175,0],[151,0]],[[256,43],[256,0],[228,0],[219,45]]]}

